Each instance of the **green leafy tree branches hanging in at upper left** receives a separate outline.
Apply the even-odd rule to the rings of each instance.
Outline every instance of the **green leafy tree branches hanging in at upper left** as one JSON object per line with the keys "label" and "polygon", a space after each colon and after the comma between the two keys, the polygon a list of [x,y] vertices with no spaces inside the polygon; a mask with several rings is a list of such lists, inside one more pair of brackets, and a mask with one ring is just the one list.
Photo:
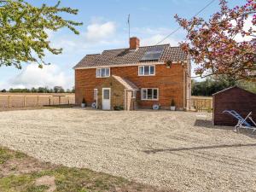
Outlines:
{"label": "green leafy tree branches hanging in at upper left", "polygon": [[77,15],[78,9],[61,8],[60,3],[35,7],[25,0],[0,0],[0,67],[21,68],[22,62],[36,62],[43,67],[45,51],[61,54],[62,49],[50,46],[47,30],[67,27],[79,34],[75,26],[82,23],[63,19],[60,14]]}

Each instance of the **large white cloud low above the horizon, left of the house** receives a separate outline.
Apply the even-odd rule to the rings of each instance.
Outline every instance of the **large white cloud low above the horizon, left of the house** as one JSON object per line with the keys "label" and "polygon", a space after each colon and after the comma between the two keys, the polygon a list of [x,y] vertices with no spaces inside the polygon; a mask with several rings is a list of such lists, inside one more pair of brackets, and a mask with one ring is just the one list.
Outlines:
{"label": "large white cloud low above the horizon, left of the house", "polygon": [[62,86],[64,88],[73,87],[73,77],[68,77],[61,69],[55,65],[38,68],[36,64],[26,66],[20,74],[9,79],[5,87],[13,88],[32,88],[32,87],[49,87]]}

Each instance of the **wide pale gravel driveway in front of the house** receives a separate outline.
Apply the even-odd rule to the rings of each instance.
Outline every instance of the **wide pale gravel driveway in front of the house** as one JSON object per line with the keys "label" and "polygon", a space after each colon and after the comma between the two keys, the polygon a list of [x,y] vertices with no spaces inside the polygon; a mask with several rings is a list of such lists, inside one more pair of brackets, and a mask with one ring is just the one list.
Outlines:
{"label": "wide pale gravel driveway in front of the house", "polygon": [[256,191],[256,137],[213,127],[210,113],[0,114],[0,144],[39,160],[181,191]]}

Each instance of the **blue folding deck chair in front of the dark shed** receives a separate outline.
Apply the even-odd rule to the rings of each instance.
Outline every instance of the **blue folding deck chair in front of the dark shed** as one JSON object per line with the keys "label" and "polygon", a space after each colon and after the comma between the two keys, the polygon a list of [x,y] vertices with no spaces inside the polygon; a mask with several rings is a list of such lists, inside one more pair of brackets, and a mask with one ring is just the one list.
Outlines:
{"label": "blue folding deck chair in front of the dark shed", "polygon": [[[256,131],[256,123],[253,121],[252,112],[247,114],[247,117],[243,119],[239,113],[237,113],[235,110],[224,110],[223,113],[230,113],[234,118],[238,120],[234,131],[239,131],[239,129],[247,129],[247,130],[253,130]],[[250,121],[253,123],[253,125],[249,124],[247,122],[247,119],[250,119]]]}

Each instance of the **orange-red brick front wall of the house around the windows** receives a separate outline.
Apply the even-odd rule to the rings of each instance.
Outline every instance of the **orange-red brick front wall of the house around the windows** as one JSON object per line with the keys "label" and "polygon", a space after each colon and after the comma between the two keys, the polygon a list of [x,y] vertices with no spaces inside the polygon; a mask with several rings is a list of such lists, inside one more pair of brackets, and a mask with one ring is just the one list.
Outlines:
{"label": "orange-red brick front wall of the house around the windows", "polygon": [[[140,101],[140,91],[137,92],[138,105],[141,108],[151,108],[154,103],[169,108],[172,98],[177,108],[183,109],[184,67],[174,64],[171,68],[165,65],[155,65],[154,76],[138,76],[138,67],[112,67],[111,75],[117,75],[137,85],[139,88],[159,88],[159,101]],[[106,80],[96,78],[96,68],[75,70],[76,103],[81,103],[84,97],[88,103],[93,102],[93,90],[98,84]]]}

